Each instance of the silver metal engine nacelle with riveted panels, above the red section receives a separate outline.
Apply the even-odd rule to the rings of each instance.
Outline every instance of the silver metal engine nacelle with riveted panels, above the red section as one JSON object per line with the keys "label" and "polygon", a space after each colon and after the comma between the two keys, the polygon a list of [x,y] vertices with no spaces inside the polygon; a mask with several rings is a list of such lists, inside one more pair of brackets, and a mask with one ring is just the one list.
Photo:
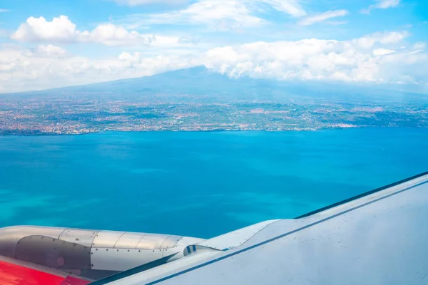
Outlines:
{"label": "silver metal engine nacelle with riveted panels, above the red section", "polygon": [[179,259],[185,247],[203,240],[167,234],[15,226],[0,229],[0,255],[98,279],[156,260]]}

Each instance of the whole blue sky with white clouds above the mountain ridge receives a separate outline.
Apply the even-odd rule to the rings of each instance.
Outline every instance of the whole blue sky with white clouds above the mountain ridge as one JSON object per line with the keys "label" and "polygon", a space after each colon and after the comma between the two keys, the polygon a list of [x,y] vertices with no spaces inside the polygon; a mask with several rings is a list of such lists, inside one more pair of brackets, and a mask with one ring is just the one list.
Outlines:
{"label": "whole blue sky with white clouds above the mountain ridge", "polygon": [[0,93],[204,64],[231,77],[427,86],[424,0],[15,0]]}

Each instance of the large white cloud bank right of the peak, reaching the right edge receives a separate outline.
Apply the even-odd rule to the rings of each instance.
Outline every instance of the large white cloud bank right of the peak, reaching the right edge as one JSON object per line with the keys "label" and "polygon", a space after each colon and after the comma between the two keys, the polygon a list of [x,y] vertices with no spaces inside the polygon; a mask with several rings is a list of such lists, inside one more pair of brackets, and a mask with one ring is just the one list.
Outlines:
{"label": "large white cloud bank right of the peak, reaching the right edge", "polygon": [[[423,68],[428,64],[425,51],[414,53],[412,48],[399,53],[386,51],[386,47],[383,51],[373,47],[367,50],[356,40],[312,38],[214,48],[205,55],[204,63],[232,77],[374,83],[427,81],[427,71]],[[382,52],[383,56],[374,54]]]}

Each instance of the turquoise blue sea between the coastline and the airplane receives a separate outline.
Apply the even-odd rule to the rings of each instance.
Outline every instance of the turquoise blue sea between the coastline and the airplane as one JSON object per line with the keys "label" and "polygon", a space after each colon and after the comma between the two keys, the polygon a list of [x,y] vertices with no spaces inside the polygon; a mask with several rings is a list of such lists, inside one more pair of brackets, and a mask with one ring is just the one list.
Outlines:
{"label": "turquoise blue sea between the coastline and the airplane", "polygon": [[428,129],[0,137],[0,227],[213,237],[428,170]]}

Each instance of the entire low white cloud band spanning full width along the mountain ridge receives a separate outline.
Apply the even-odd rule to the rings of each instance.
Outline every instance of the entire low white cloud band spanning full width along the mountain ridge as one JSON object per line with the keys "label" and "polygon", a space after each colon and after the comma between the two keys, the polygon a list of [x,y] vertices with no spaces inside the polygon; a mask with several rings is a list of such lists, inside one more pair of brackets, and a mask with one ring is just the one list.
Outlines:
{"label": "entire low white cloud band spanning full width along the mountain ridge", "polygon": [[[5,47],[0,49],[0,86],[3,92],[53,88],[202,64],[231,77],[427,84],[426,45],[419,42],[404,47],[406,36],[405,32],[384,32],[350,41],[259,41],[163,56],[124,51],[103,61],[72,56],[58,46],[38,46],[33,51]],[[160,42],[168,45],[168,41]]]}

